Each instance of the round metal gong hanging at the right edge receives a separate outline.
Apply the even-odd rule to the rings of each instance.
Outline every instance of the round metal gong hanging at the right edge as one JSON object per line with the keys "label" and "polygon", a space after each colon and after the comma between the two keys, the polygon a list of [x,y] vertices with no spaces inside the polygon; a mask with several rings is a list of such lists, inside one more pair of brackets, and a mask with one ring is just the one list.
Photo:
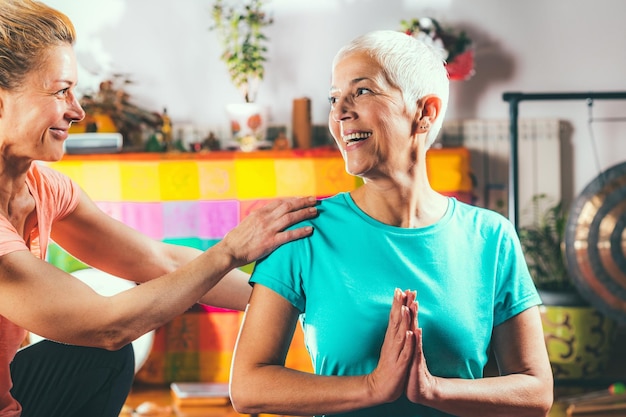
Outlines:
{"label": "round metal gong hanging at the right edge", "polygon": [[596,177],[574,201],[565,257],[574,284],[591,305],[626,323],[626,162]]}

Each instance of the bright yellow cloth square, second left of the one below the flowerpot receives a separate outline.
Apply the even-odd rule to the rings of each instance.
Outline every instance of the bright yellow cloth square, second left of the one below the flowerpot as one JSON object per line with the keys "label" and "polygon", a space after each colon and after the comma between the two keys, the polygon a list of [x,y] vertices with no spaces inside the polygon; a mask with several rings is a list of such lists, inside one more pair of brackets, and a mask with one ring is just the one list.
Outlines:
{"label": "bright yellow cloth square, second left of the one below the flowerpot", "polygon": [[198,165],[195,161],[162,161],[159,164],[161,199],[198,200]]}

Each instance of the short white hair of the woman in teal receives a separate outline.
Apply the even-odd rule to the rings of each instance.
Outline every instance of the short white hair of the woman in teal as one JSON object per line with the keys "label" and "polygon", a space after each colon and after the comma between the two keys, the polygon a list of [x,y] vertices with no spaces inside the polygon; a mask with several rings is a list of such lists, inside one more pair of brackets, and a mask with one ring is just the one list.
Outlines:
{"label": "short white hair of the woman in teal", "polygon": [[359,36],[341,48],[333,59],[333,69],[355,52],[367,53],[381,66],[386,79],[402,92],[410,112],[415,112],[422,97],[431,94],[439,97],[441,109],[426,141],[430,147],[441,130],[450,94],[448,72],[441,55],[431,45],[403,32],[378,30]]}

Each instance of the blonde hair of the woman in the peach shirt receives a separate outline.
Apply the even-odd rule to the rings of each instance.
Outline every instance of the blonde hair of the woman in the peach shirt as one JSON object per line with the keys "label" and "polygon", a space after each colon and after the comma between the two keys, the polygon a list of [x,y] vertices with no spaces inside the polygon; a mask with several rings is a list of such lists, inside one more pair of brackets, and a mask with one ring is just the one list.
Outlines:
{"label": "blonde hair of the woman in the peach shirt", "polygon": [[39,1],[0,0],[0,88],[17,89],[25,76],[43,65],[50,47],[76,40],[63,13]]}

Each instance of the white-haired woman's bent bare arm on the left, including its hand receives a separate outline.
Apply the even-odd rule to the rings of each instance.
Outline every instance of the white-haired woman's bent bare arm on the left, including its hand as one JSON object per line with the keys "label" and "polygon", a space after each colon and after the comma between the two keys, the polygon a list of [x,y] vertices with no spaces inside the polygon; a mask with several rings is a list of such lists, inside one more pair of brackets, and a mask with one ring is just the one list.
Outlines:
{"label": "white-haired woman's bent bare arm on the left, including its hand", "polygon": [[412,302],[412,296],[396,292],[381,359],[371,374],[320,376],[284,366],[298,311],[272,290],[255,285],[233,358],[233,406],[240,413],[317,415],[397,399],[413,354],[406,306]]}

